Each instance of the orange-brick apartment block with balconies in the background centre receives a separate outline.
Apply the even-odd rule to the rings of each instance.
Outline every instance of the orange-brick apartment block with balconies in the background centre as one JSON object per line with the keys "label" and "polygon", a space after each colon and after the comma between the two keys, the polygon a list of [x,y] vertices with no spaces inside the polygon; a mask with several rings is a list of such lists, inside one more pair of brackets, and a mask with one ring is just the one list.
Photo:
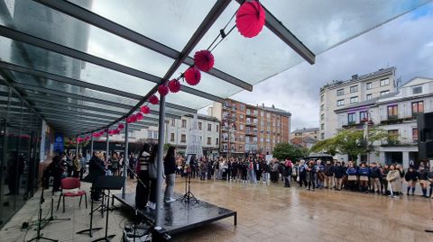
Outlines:
{"label": "orange-brick apartment block with balconies in the background centre", "polygon": [[291,113],[274,106],[226,99],[214,103],[207,113],[221,120],[220,152],[225,156],[272,154],[276,144],[290,140]]}

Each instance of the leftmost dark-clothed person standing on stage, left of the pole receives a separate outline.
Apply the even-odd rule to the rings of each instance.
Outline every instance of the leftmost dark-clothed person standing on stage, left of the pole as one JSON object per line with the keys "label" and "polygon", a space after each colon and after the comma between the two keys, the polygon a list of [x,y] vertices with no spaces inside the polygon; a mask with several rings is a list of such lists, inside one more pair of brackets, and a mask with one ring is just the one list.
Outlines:
{"label": "leftmost dark-clothed person standing on stage, left of the pole", "polygon": [[[149,152],[151,146],[148,144],[144,144],[143,148],[140,152],[140,157],[138,157],[138,178],[140,181],[137,183],[137,187],[135,188],[135,206],[139,210],[143,210],[147,206],[147,202],[149,202],[149,192],[150,192],[150,181],[151,178],[149,176],[149,161],[151,155]],[[144,185],[143,185],[144,184]]]}

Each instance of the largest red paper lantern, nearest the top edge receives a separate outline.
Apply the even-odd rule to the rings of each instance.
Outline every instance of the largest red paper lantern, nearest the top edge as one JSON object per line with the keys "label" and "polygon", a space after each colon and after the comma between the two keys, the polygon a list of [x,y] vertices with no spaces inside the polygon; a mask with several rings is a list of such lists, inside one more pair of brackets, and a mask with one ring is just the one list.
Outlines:
{"label": "largest red paper lantern, nearest the top edge", "polygon": [[253,38],[263,30],[265,13],[259,1],[244,2],[236,13],[237,30],[246,38]]}

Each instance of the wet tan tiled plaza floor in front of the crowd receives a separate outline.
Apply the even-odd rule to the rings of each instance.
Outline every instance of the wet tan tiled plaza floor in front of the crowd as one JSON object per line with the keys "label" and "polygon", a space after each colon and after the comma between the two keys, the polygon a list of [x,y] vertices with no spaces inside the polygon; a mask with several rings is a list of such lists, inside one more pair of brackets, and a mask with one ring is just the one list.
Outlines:
{"label": "wet tan tiled plaza floor in front of the crowd", "polygon": [[[128,191],[135,184],[129,181]],[[176,192],[183,193],[183,180],[178,179]],[[88,185],[85,186],[88,189]],[[238,225],[226,219],[182,233],[173,241],[433,241],[433,200],[404,195],[398,199],[368,193],[316,192],[284,188],[282,184],[242,184],[193,179],[192,192],[200,200],[215,203],[238,212]],[[20,229],[23,221],[36,220],[39,194],[28,201],[21,211],[0,230],[0,241],[26,241],[35,231]],[[57,202],[58,196],[55,197]],[[67,198],[68,199],[68,198]],[[46,195],[44,214],[51,194]],[[94,238],[75,234],[88,228],[88,212],[78,199],[67,201],[66,212],[55,211],[60,218],[72,218],[49,224],[44,236],[60,241],[91,241]],[[118,204],[118,203],[116,203]],[[110,213],[109,231],[120,241],[128,216],[125,211]],[[104,227],[105,219],[97,214],[94,226]]]}

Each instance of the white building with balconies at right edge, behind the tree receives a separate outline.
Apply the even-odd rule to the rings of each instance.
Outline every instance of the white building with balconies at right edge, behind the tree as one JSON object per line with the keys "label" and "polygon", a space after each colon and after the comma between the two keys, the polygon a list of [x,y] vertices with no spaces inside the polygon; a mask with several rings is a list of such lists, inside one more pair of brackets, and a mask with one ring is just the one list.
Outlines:
{"label": "white building with balconies at right edge, behind the tree", "polygon": [[398,163],[404,167],[419,162],[417,115],[433,112],[433,79],[416,77],[402,85],[398,93],[383,95],[336,110],[340,129],[379,127],[398,137],[374,143],[368,161]]}

